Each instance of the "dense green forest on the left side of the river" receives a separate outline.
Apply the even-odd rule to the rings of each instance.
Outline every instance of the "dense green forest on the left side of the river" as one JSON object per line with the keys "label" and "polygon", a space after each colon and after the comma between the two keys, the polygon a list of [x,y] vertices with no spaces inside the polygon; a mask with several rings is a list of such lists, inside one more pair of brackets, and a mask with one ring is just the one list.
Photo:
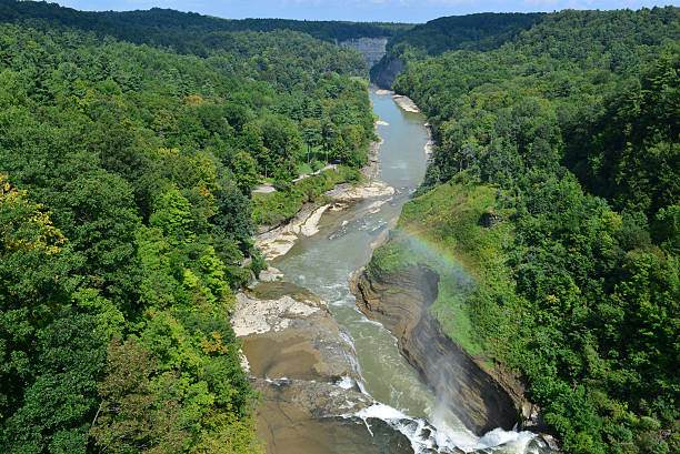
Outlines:
{"label": "dense green forest on the left side of the river", "polygon": [[[229,325],[263,266],[254,211],[358,178],[366,62],[290,30],[161,42],[73,14],[2,1],[0,452],[261,452]],[[251,201],[264,181],[277,204]]]}

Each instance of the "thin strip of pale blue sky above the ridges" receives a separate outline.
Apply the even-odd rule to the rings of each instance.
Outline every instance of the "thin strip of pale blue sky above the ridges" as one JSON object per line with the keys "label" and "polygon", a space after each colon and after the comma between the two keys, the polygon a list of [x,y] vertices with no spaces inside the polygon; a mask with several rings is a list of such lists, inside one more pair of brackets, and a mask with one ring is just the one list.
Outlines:
{"label": "thin strip of pale blue sky above the ridges", "polygon": [[227,19],[286,18],[380,22],[427,22],[442,16],[487,11],[610,10],[678,4],[678,0],[57,0],[57,2],[88,11],[129,11],[159,7]]}

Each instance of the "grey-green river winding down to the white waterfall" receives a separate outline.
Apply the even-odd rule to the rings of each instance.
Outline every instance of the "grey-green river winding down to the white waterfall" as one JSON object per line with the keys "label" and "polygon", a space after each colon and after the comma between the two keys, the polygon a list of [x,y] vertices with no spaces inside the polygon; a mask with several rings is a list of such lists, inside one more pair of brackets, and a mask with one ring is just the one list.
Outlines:
{"label": "grey-green river winding down to the white waterfall", "polygon": [[[390,94],[371,90],[370,98],[373,111],[381,120],[378,134],[383,140],[379,150],[378,178],[394,188],[394,194],[366,200],[349,210],[327,211],[319,233],[302,238],[273,265],[286,274],[288,281],[326,300],[332,314],[347,330],[359,360],[360,386],[382,404],[370,407],[363,416],[403,421],[407,415],[421,426],[426,421],[432,424],[437,430],[430,441],[408,434],[416,452],[424,452],[433,438],[438,446],[458,446],[466,452],[482,448],[484,451],[478,452],[539,452],[538,442],[528,433],[497,430],[480,440],[468,431],[451,412],[437,405],[437,397],[401,356],[391,333],[357,309],[348,279],[368,263],[370,244],[389,229],[390,221],[399,215],[403,203],[422,181],[427,167],[424,145],[429,140],[421,114],[401,110]],[[499,443],[504,444],[488,448]],[[357,453],[358,448],[349,447],[348,454]]]}

